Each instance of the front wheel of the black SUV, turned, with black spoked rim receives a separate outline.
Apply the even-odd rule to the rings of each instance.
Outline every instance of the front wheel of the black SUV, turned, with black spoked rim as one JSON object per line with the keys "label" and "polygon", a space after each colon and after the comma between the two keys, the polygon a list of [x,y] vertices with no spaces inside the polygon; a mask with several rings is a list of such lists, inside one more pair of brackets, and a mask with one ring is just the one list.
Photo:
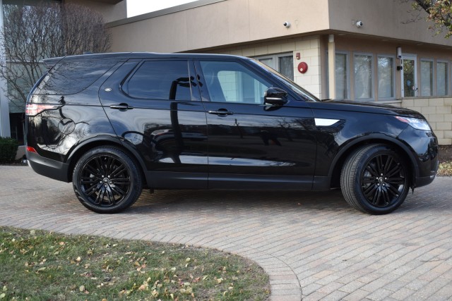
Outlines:
{"label": "front wheel of the black SUV, turned, with black spoked rim", "polygon": [[368,214],[388,214],[410,190],[408,165],[388,145],[366,145],[351,154],[340,175],[348,204]]}

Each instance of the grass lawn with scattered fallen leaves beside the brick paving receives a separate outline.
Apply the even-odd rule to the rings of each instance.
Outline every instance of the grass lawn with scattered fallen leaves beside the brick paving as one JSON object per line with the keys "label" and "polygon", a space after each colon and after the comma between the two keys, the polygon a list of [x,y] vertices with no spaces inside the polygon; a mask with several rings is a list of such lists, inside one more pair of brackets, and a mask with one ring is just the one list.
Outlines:
{"label": "grass lawn with scattered fallen leaves beside the brick paving", "polygon": [[183,245],[0,227],[0,300],[266,300],[242,257]]}

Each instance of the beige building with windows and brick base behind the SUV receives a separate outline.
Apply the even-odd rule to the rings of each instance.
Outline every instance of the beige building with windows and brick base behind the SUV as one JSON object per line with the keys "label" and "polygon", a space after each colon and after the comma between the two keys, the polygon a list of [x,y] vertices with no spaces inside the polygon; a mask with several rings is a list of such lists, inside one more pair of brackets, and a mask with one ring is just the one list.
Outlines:
{"label": "beige building with windows and brick base behind the SUV", "polygon": [[452,144],[452,39],[398,0],[199,0],[109,23],[112,51],[249,56],[321,99],[420,111]]}

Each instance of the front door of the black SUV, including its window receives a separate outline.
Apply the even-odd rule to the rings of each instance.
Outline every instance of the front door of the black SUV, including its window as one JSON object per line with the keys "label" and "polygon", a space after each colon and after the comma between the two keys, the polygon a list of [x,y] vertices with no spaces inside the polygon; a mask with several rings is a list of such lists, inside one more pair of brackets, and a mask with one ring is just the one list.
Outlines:
{"label": "front door of the black SUV, including its window", "polygon": [[263,104],[275,83],[240,61],[199,61],[196,71],[208,100],[209,188],[310,189],[316,139],[306,103]]}

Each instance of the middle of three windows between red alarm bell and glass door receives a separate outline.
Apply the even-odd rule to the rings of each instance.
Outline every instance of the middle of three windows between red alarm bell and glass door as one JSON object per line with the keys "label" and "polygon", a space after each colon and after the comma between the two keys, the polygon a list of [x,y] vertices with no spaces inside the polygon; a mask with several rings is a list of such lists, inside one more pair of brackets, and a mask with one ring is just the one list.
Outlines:
{"label": "middle of three windows between red alarm bell and glass door", "polygon": [[355,54],[355,99],[373,99],[372,68],[373,56]]}

